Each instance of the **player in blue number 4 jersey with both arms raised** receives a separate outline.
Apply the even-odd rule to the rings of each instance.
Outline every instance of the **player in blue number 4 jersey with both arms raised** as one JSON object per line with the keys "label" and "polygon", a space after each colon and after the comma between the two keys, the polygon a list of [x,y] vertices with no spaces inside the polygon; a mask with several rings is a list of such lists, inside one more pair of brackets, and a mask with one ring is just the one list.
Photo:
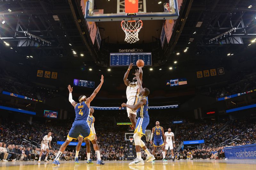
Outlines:
{"label": "player in blue number 4 jersey with both arms raised", "polygon": [[68,91],[69,91],[69,97],[68,100],[69,102],[74,106],[75,112],[76,112],[76,118],[74,123],[72,124],[72,127],[70,131],[68,132],[68,137],[67,140],[64,142],[64,144],[61,145],[59,152],[56,155],[56,158],[53,161],[53,165],[59,165],[59,159],[60,155],[62,152],[65,151],[66,147],[68,144],[72,141],[72,139],[77,139],[79,135],[81,134],[84,138],[88,138],[89,140],[92,141],[93,148],[97,154],[97,165],[104,165],[104,162],[100,158],[100,148],[95,140],[95,135],[93,134],[89,124],[88,124],[88,118],[89,118],[89,108],[90,108],[90,103],[96,96],[96,94],[99,92],[102,84],[103,84],[104,77],[101,75],[101,82],[100,85],[94,90],[92,95],[88,98],[86,96],[81,95],[79,96],[78,100],[79,103],[76,103],[72,99],[72,91],[73,88],[68,85]]}

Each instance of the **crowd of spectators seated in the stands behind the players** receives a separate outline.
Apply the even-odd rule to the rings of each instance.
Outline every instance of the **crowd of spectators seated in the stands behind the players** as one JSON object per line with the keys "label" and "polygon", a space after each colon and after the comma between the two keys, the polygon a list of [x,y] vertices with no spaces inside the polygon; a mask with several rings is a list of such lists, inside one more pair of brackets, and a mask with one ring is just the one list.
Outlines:
{"label": "crowd of spectators seated in the stands behind the players", "polygon": [[[255,115],[251,115],[254,117]],[[99,122],[97,122],[100,124]],[[167,126],[162,122],[164,127]],[[2,161],[12,160],[38,160],[40,149],[36,148],[32,141],[41,143],[42,138],[48,131],[58,129],[58,134],[52,132],[52,149],[49,152],[48,160],[56,157],[60,145],[56,144],[57,140],[63,140],[60,136],[66,137],[71,127],[71,123],[65,126],[46,126],[36,122],[1,120],[0,121],[0,159]],[[223,146],[227,145],[246,145],[256,143],[256,123],[255,119],[244,118],[234,121],[224,121],[222,123],[189,123],[176,125],[175,130],[175,159],[224,159]],[[151,126],[149,126],[151,128]],[[153,126],[152,126],[153,127]],[[102,128],[95,126],[97,141],[100,146],[101,157],[103,160],[125,160],[129,153],[130,143],[124,140],[124,133],[127,127],[113,126]],[[201,148],[184,148],[177,151],[182,141],[205,139],[205,144]],[[232,139],[236,139],[233,140]],[[227,140],[230,139],[228,142]],[[65,139],[64,139],[65,140]],[[145,138],[142,140],[145,141]],[[225,143],[226,141],[226,143]],[[224,145],[222,145],[224,142]],[[149,151],[152,152],[153,145],[145,142]],[[33,146],[32,146],[32,145]],[[222,146],[221,146],[222,145]],[[39,145],[38,145],[39,146]],[[91,146],[91,159],[96,160],[96,154]],[[45,158],[45,152],[42,159]],[[69,148],[62,155],[60,160],[74,160],[75,148]],[[141,156],[146,158],[146,153],[142,151]],[[85,148],[79,152],[79,159],[86,160],[87,154]],[[162,150],[157,148],[156,159],[163,159]],[[167,152],[166,159],[172,159],[171,153]]]}

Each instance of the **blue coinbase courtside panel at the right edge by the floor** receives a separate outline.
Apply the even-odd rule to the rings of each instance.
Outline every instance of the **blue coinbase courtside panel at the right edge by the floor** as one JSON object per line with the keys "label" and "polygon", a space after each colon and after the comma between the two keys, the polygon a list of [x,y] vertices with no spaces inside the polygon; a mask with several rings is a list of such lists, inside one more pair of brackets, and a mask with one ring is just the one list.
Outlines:
{"label": "blue coinbase courtside panel at the right edge by the floor", "polygon": [[228,159],[256,159],[256,144],[224,148]]}

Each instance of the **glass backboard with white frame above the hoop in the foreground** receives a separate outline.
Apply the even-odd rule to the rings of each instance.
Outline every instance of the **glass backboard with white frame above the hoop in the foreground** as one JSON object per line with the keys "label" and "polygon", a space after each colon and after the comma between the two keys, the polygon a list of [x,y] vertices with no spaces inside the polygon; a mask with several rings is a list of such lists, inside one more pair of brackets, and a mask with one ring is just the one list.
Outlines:
{"label": "glass backboard with white frame above the hoop in the foreground", "polygon": [[85,19],[100,22],[177,19],[179,17],[177,0],[133,0],[131,2],[134,1],[138,3],[138,12],[129,15],[125,13],[126,0],[89,0],[86,3]]}

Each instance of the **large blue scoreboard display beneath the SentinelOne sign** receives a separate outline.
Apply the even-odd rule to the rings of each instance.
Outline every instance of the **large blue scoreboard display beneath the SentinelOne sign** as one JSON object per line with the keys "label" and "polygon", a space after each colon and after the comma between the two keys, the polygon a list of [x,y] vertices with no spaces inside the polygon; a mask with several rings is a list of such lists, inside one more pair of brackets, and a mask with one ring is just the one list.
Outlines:
{"label": "large blue scoreboard display beneath the SentinelOne sign", "polygon": [[152,66],[151,53],[110,53],[110,66],[136,65],[137,60],[143,60],[144,66]]}

